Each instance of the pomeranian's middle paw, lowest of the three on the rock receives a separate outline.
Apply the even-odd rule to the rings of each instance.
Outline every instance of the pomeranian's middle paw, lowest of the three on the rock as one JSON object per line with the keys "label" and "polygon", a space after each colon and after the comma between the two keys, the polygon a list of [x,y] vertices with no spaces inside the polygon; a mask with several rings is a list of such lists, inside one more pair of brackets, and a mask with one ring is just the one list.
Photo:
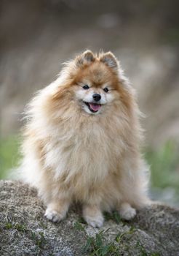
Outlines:
{"label": "pomeranian's middle paw, lowest of the three on the rock", "polygon": [[83,207],[83,216],[88,225],[92,227],[101,227],[104,222],[100,206],[85,204]]}

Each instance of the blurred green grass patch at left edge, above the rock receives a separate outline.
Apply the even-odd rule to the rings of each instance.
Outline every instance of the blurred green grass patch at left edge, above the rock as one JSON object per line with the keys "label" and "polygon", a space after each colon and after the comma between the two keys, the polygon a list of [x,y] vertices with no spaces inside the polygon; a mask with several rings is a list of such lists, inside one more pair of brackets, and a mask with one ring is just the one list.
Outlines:
{"label": "blurred green grass patch at left edge, above the rock", "polygon": [[20,159],[18,135],[0,138],[0,179],[7,178],[9,170],[17,167]]}

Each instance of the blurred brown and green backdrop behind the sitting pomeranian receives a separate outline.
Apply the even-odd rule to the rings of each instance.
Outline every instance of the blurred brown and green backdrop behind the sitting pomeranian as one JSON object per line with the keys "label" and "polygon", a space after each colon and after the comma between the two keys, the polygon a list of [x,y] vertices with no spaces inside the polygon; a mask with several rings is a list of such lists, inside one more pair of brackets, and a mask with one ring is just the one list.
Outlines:
{"label": "blurred brown and green backdrop behind the sitting pomeranian", "polygon": [[1,0],[0,178],[20,159],[25,104],[81,50],[111,50],[145,113],[151,197],[179,206],[179,2]]}

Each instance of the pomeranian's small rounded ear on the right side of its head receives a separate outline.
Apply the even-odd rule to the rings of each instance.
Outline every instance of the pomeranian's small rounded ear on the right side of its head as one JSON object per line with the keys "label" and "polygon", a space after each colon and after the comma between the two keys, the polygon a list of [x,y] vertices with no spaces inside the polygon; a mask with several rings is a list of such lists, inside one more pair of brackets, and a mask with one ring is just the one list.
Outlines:
{"label": "pomeranian's small rounded ear on the right side of its head", "polygon": [[102,61],[108,67],[113,69],[115,72],[117,72],[119,69],[118,61],[117,61],[116,57],[114,56],[114,54],[111,53],[110,51],[108,53],[103,53],[100,56],[100,61]]}

